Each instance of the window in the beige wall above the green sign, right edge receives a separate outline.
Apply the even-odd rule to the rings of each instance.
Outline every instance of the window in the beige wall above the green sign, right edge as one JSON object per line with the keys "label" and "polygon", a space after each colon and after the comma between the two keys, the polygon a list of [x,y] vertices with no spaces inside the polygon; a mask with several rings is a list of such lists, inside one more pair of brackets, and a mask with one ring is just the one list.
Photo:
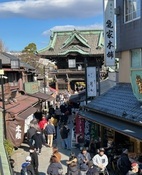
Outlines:
{"label": "window in the beige wall above the green sign, right edge", "polygon": [[131,51],[131,67],[142,67],[142,49],[134,49]]}

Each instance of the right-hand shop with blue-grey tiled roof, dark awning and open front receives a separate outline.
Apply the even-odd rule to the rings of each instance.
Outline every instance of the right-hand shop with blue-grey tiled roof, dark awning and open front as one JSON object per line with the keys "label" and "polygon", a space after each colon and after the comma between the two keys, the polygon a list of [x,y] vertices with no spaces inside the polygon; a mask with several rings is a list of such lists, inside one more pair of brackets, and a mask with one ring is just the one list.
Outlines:
{"label": "right-hand shop with blue-grey tiled roof, dark awning and open front", "polygon": [[101,146],[110,141],[136,153],[142,152],[141,114],[141,104],[130,84],[118,84],[79,111],[82,119],[98,125],[98,133],[94,132],[100,137]]}

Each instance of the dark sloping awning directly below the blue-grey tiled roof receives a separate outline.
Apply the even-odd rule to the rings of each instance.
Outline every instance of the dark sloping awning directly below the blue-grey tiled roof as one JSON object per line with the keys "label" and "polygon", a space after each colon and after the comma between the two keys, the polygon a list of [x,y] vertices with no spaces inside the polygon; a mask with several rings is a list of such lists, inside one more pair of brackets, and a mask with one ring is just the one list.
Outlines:
{"label": "dark sloping awning directly below the blue-grey tiled roof", "polygon": [[93,112],[86,112],[86,111],[80,111],[79,116],[90,120],[92,122],[95,122],[97,124],[100,124],[105,127],[109,127],[121,134],[127,135],[129,137],[133,137],[135,139],[142,140],[142,125],[136,125],[131,122],[126,122],[124,120],[120,120],[114,117],[108,117],[105,115],[93,113]]}

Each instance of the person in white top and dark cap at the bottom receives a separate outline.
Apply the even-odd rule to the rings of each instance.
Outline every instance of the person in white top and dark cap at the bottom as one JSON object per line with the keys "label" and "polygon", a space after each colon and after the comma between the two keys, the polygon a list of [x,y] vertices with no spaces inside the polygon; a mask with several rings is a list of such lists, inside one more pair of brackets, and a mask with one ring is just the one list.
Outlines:
{"label": "person in white top and dark cap at the bottom", "polygon": [[92,159],[93,164],[96,167],[94,175],[99,175],[99,173],[103,173],[107,171],[106,166],[108,165],[108,157],[105,155],[104,152],[105,152],[105,149],[100,148],[98,150],[98,154],[96,154]]}

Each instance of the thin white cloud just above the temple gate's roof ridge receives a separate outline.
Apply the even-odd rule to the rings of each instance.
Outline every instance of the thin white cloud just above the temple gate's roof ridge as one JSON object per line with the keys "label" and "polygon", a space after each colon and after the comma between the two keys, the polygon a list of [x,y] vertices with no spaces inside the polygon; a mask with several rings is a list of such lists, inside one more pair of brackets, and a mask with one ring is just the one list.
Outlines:
{"label": "thin white cloud just above the temple gate's roof ridge", "polygon": [[74,26],[74,25],[64,25],[64,26],[54,26],[51,29],[44,31],[43,35],[50,35],[52,31],[70,31],[70,30],[91,30],[91,29],[103,29],[102,24],[92,24],[87,26]]}

